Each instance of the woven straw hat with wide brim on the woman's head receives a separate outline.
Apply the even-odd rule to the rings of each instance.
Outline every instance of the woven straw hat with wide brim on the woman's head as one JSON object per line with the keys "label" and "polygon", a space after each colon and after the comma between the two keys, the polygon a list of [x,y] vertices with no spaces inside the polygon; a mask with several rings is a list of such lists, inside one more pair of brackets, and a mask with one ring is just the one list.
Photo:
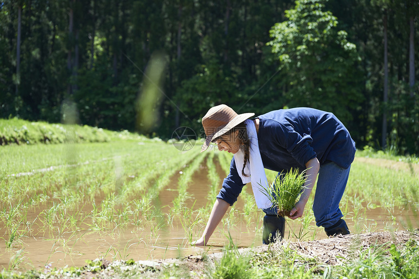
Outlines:
{"label": "woven straw hat with wide brim on the woman's head", "polygon": [[207,114],[202,117],[202,126],[207,138],[202,145],[201,152],[208,149],[214,138],[225,134],[253,115],[255,114],[252,112],[237,114],[226,105],[210,108]]}

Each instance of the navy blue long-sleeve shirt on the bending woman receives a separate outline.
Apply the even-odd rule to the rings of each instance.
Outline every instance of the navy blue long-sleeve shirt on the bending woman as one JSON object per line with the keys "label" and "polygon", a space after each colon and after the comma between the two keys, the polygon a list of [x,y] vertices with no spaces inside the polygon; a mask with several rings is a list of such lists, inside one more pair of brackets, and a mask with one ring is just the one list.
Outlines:
{"label": "navy blue long-sleeve shirt on the bending woman", "polygon": [[[305,163],[317,157],[320,165],[335,162],[348,168],[355,157],[355,142],[333,113],[311,108],[278,110],[260,115],[258,143],[265,168],[287,171],[305,169]],[[243,184],[234,157],[229,175],[217,198],[230,205],[237,201]]]}

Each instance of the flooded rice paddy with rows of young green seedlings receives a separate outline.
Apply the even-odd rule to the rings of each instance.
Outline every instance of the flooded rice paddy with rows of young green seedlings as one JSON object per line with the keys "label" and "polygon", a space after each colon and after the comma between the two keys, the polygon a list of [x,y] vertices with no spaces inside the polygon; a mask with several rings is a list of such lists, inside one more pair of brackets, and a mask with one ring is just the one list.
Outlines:
{"label": "flooded rice paddy with rows of young green seedlings", "polygon": [[[167,259],[219,252],[230,241],[238,247],[262,244],[263,212],[247,185],[218,225],[210,246],[190,246],[205,228],[230,154],[215,150],[200,154],[196,147],[180,152],[164,143],[124,144],[124,148],[55,146],[49,155],[33,147],[24,162],[28,167],[4,163],[0,266],[24,270],[82,266],[96,258]],[[7,151],[13,149],[2,148],[1,155],[12,160]],[[57,159],[59,152],[64,154],[62,160]],[[418,227],[418,169],[406,163],[356,158],[341,203],[350,230]],[[269,180],[274,175],[267,172]],[[396,185],[386,188],[387,184]],[[394,190],[400,187],[400,193]],[[304,218],[287,219],[288,239],[326,238],[315,225],[312,198]]]}

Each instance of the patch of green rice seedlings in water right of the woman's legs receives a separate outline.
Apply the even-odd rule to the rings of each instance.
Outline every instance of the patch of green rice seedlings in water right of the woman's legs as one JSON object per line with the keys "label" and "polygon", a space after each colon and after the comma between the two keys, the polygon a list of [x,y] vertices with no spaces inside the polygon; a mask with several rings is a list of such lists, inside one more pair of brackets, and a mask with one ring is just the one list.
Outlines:
{"label": "patch of green rice seedlings in water right of the woman's legs", "polygon": [[[397,162],[394,164],[401,167],[386,167],[386,161],[381,159],[369,159],[363,162],[356,158],[351,166],[345,195],[347,202],[343,206],[344,215],[348,215],[354,222],[354,232],[369,232],[377,229],[377,226],[385,230],[395,230],[401,225],[405,227],[418,226],[417,218],[410,218],[412,214],[417,216],[419,205],[419,182],[418,174],[411,171],[409,164]],[[384,166],[381,166],[384,164]],[[403,168],[402,166],[405,166]],[[388,215],[385,222],[378,224],[375,220],[369,220],[368,209],[381,207],[382,214]],[[348,208],[346,210],[346,208]],[[396,209],[407,213],[406,220],[395,217]]]}

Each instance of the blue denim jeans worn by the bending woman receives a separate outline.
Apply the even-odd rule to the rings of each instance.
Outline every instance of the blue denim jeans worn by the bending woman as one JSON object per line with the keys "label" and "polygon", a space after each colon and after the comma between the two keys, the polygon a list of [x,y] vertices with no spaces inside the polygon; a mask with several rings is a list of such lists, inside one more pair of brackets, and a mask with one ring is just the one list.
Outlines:
{"label": "blue denim jeans worn by the bending woman", "polygon": [[[339,203],[348,182],[350,168],[349,166],[344,169],[333,162],[320,167],[313,203],[317,226],[330,227],[343,217]],[[266,208],[263,211],[274,215],[276,207]]]}

